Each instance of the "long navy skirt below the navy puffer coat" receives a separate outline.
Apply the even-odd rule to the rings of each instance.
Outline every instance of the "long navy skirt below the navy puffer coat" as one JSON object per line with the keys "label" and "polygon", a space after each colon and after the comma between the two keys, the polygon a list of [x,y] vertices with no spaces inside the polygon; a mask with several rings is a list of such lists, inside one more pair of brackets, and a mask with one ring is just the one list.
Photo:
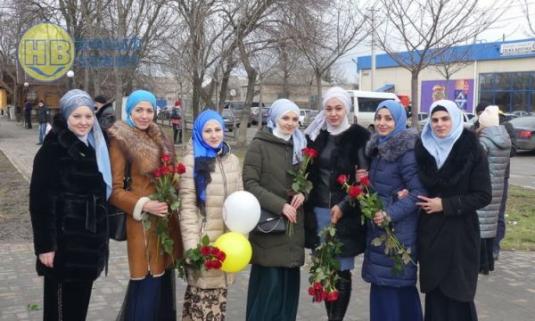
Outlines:
{"label": "long navy skirt below the navy puffer coat", "polygon": [[422,303],[416,286],[370,288],[370,321],[422,321]]}

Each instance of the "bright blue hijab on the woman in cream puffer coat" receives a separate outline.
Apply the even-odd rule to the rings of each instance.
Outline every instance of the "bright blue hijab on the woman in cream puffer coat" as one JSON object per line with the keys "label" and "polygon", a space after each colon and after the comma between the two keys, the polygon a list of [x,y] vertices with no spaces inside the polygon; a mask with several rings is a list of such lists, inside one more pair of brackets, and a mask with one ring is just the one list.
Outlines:
{"label": "bright blue hijab on the woman in cream puffer coat", "polygon": [[210,184],[210,172],[215,168],[215,160],[218,152],[223,148],[224,143],[213,148],[206,144],[202,139],[202,130],[210,120],[215,120],[219,123],[225,133],[225,121],[216,111],[202,111],[197,116],[193,123],[193,157],[195,165],[193,167],[193,180],[195,181],[195,192],[197,193],[197,201],[203,204],[206,202],[206,186]]}

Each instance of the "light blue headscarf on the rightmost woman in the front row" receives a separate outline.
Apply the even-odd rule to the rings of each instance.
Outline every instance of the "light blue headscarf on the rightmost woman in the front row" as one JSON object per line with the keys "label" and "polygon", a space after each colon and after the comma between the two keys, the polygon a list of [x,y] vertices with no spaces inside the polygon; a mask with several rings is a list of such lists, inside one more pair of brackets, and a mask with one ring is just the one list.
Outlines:
{"label": "light blue headscarf on the rightmost woman in the front row", "polygon": [[[451,131],[449,135],[443,138],[436,136],[431,128],[431,117],[433,110],[442,106],[448,111],[451,118]],[[429,108],[429,118],[425,123],[424,130],[422,130],[422,144],[429,152],[437,163],[437,168],[440,169],[446,159],[448,159],[449,152],[453,148],[453,144],[457,142],[457,139],[463,134],[463,114],[457,107],[457,103],[449,100],[440,100],[432,103]]]}

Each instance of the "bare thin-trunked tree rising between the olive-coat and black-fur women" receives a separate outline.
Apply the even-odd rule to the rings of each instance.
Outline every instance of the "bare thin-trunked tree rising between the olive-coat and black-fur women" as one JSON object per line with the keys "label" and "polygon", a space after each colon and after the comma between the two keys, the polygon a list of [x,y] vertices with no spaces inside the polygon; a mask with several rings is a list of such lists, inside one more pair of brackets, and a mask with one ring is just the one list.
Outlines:
{"label": "bare thin-trunked tree rising between the olive-coat and black-fur women", "polygon": [[315,72],[317,106],[321,103],[322,78],[334,62],[361,43],[367,36],[366,17],[358,1],[317,1],[294,3],[285,14],[292,43],[309,61]]}

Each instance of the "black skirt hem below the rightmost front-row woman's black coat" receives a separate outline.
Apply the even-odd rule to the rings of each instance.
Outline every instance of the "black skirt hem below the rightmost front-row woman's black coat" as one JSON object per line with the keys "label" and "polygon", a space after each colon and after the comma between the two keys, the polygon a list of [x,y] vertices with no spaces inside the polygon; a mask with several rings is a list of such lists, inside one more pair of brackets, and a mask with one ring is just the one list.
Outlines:
{"label": "black skirt hem below the rightmost front-row woman's black coat", "polygon": [[450,299],[439,288],[425,294],[424,321],[477,321],[473,301]]}

